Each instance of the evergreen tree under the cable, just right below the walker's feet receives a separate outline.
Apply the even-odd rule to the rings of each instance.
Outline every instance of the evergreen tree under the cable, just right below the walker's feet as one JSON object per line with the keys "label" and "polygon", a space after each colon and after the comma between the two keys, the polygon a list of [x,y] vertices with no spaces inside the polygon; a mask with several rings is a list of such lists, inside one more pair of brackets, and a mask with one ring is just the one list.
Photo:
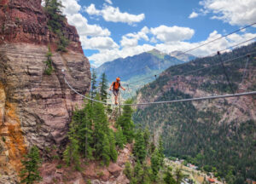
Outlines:
{"label": "evergreen tree under the cable, just right below the walker's feet", "polygon": [[[131,102],[131,100],[125,101],[126,104]],[[131,106],[124,106],[123,113],[116,122],[117,126],[120,126],[123,129],[126,141],[130,143],[133,140],[134,136],[134,124],[133,121],[131,120],[132,112],[133,111],[131,109]]]}

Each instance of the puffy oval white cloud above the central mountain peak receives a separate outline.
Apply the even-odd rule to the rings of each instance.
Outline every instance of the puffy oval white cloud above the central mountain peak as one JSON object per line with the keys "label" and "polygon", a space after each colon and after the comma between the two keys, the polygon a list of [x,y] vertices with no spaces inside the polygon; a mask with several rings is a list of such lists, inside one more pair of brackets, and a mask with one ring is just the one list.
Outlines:
{"label": "puffy oval white cloud above the central mountain peak", "polygon": [[150,31],[156,38],[164,43],[177,42],[181,40],[187,40],[193,37],[195,31],[189,27],[179,26],[159,26],[151,28]]}

